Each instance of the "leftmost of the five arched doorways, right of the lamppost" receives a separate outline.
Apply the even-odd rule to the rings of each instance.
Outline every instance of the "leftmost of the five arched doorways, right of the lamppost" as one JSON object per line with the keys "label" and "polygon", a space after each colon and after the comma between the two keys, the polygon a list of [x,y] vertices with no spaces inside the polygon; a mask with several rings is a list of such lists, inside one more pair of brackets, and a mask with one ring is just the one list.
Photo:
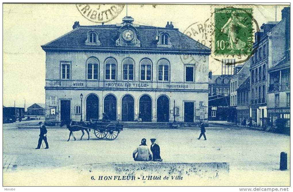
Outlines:
{"label": "leftmost of the five arched doorways, right of the lamppost", "polygon": [[95,94],[86,97],[86,121],[99,119],[99,98]]}

